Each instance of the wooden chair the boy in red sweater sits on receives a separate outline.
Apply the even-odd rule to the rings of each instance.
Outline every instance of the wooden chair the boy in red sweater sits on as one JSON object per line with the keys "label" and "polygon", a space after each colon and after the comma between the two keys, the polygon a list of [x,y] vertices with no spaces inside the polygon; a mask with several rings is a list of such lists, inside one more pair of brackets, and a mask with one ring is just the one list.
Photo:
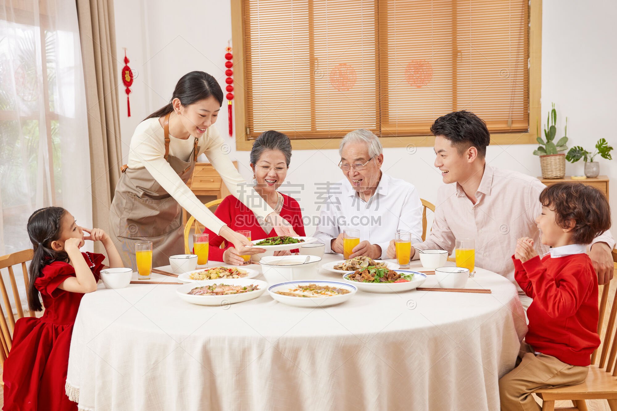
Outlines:
{"label": "wooden chair the boy in red sweater sits on", "polygon": [[[617,262],[617,249],[613,250],[613,262]],[[600,297],[600,317],[598,318],[598,334],[602,330],[602,324],[607,308],[608,291],[611,283],[602,286],[602,296]],[[570,400],[575,407],[562,408],[561,410],[587,411],[585,400],[605,399],[611,411],[617,411],[617,330],[615,328],[615,317],[617,317],[617,293],[613,299],[610,315],[608,316],[607,331],[602,341],[602,351],[600,352],[600,362],[595,365],[598,350],[591,355],[591,365],[589,375],[584,383],[560,388],[545,388],[536,391],[537,396],[542,399],[542,410],[552,411],[555,409],[555,401]],[[608,359],[607,359],[608,355]]]}

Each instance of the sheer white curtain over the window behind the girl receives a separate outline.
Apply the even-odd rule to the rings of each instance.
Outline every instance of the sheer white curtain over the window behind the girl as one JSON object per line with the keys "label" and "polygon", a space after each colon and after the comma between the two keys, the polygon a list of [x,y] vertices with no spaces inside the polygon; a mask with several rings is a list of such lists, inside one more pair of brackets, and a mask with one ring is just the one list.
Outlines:
{"label": "sheer white curtain over the window behind the girl", "polygon": [[91,225],[86,112],[75,1],[0,2],[0,255],[31,247],[41,207]]}

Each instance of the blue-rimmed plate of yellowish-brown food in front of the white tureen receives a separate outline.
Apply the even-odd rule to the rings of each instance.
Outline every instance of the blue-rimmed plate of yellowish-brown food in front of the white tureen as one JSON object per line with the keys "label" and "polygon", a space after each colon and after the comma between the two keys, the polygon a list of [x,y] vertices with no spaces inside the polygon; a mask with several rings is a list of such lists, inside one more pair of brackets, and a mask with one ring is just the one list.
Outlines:
{"label": "blue-rimmed plate of yellowish-brown food in front of the white tureen", "polygon": [[268,288],[270,296],[293,307],[328,307],[354,296],[357,288],[337,281],[288,281]]}

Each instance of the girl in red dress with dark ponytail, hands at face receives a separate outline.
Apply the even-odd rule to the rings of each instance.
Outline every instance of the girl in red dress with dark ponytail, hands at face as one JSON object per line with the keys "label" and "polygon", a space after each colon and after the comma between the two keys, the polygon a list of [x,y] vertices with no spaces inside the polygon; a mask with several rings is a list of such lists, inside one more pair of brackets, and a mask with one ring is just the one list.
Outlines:
{"label": "girl in red dress with dark ponytail, hands at face", "polygon": [[44,306],[45,312],[41,318],[24,317],[15,323],[4,362],[2,409],[77,410],[65,394],[68,349],[81,297],[96,291],[105,259],[79,249],[85,240],[101,241],[110,267],[122,267],[122,259],[107,233],[78,226],[62,207],[36,210],[28,219],[28,236],[35,251],[29,269],[30,310]]}

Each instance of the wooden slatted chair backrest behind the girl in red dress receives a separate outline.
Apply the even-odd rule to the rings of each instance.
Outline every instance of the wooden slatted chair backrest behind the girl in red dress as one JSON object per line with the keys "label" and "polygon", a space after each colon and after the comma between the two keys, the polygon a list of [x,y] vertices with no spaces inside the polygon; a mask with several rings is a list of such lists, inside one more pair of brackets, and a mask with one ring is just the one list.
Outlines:
{"label": "wooden slatted chair backrest behind the girl in red dress", "polygon": [[[27,290],[30,286],[30,281],[28,281],[28,270],[26,268],[26,262],[30,261],[33,255],[34,251],[32,249],[28,249],[14,252],[12,254],[2,255],[2,257],[0,257],[0,269],[8,268],[9,270],[10,287],[12,289],[13,299],[15,301],[17,319],[23,317],[23,310],[22,303],[19,298],[19,292],[17,291],[17,281],[15,281],[15,273],[13,272],[12,266],[17,264],[22,265],[23,282],[26,284]],[[0,365],[2,365],[4,364],[4,360],[6,359],[7,355],[9,355],[9,351],[13,341],[11,333],[15,330],[15,317],[13,315],[13,308],[10,305],[9,293],[7,293],[7,289],[4,284],[4,278],[2,278],[2,275],[0,275],[0,293],[2,293],[4,309],[6,309],[5,316],[4,310],[2,310],[2,306],[0,305],[0,329],[2,331],[0,333],[0,342],[2,344],[2,349],[0,349]],[[32,310],[28,310],[28,315],[30,315],[30,317],[35,317],[35,312]]]}

